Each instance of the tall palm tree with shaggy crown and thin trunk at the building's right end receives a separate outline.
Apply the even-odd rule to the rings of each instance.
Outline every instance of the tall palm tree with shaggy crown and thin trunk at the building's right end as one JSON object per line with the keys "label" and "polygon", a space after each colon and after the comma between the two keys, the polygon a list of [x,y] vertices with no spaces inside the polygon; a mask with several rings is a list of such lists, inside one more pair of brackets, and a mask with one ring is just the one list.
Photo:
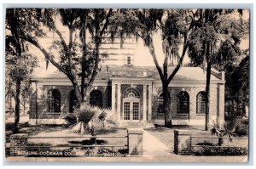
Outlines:
{"label": "tall palm tree with shaggy crown and thin trunk at the building's right end", "polygon": [[[248,34],[248,22],[241,11],[230,9],[201,9],[199,24],[193,28],[189,41],[189,58],[195,66],[207,68],[206,130],[209,122],[209,100],[212,65],[223,69],[241,54],[239,44]],[[240,14],[240,17],[237,17]]]}

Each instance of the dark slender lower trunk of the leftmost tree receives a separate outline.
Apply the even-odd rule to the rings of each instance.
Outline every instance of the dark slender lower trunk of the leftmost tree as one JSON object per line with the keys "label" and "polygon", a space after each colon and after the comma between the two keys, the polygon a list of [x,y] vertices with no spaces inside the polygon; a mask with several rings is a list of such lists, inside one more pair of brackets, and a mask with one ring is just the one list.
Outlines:
{"label": "dark slender lower trunk of the leftmost tree", "polygon": [[20,121],[20,79],[16,81],[16,95],[15,95],[15,128],[14,133],[18,132],[18,123]]}

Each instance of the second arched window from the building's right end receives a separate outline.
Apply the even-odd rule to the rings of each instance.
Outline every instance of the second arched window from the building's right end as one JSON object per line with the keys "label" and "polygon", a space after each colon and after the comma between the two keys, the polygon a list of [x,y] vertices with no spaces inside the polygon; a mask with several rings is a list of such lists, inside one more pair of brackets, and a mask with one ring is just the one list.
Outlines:
{"label": "second arched window from the building's right end", "polygon": [[177,94],[177,114],[189,114],[189,93],[185,91]]}

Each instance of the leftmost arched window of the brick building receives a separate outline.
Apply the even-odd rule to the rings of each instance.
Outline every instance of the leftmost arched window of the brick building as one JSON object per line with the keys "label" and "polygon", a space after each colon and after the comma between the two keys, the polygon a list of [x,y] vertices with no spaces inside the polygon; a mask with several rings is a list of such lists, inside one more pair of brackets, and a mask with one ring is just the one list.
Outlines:
{"label": "leftmost arched window of the brick building", "polygon": [[48,111],[49,112],[61,112],[61,93],[52,89],[47,94],[48,98]]}

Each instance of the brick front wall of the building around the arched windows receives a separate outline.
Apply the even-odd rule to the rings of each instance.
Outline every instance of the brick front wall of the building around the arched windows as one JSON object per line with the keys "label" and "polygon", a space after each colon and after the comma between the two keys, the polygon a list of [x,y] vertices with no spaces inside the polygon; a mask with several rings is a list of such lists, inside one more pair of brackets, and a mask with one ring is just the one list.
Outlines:
{"label": "brick front wall of the building around the arched windows", "polygon": [[[38,88],[38,93],[36,93],[36,87]],[[125,89],[131,87],[130,84],[122,84],[121,86],[121,103],[123,103],[123,93]],[[143,119],[143,85],[133,85],[137,88],[140,93],[140,119]],[[49,113],[48,103],[47,103],[47,93],[50,89],[57,89],[61,93],[61,114],[67,114],[69,112],[69,94],[73,90],[71,86],[55,86],[55,85],[44,85],[42,83],[35,84],[32,82],[32,93],[30,100],[30,119],[36,119],[36,112],[38,108],[38,119],[60,119],[60,114]],[[110,107],[111,105],[111,86],[99,86],[92,87],[91,90],[99,90],[102,92],[102,106],[103,108]],[[189,115],[177,115],[177,93],[181,91],[186,91],[189,93]],[[205,87],[169,87],[171,93],[171,113],[172,119],[174,121],[188,121],[188,120],[200,120],[204,121],[205,115],[196,115],[196,96],[199,92],[204,91]],[[157,98],[162,91],[161,87],[153,87],[153,97],[152,97],[152,118],[154,123],[163,124],[164,115],[157,114]],[[217,101],[217,87],[211,87],[211,98],[210,98],[210,121],[216,120],[217,115],[217,104],[219,104],[219,115],[220,119],[224,119],[224,85],[219,85],[219,102]],[[148,92],[147,92],[148,94]],[[117,98],[116,98],[117,100]],[[217,103],[218,102],[218,103]],[[37,105],[38,103],[38,105]],[[148,105],[148,95],[147,102]],[[120,119],[123,119],[123,104],[120,104],[121,114]],[[147,115],[148,115],[147,109]],[[212,117],[211,117],[212,115]],[[156,121],[160,120],[160,121]],[[191,121],[189,121],[191,122]],[[196,122],[196,121],[195,121]]]}

